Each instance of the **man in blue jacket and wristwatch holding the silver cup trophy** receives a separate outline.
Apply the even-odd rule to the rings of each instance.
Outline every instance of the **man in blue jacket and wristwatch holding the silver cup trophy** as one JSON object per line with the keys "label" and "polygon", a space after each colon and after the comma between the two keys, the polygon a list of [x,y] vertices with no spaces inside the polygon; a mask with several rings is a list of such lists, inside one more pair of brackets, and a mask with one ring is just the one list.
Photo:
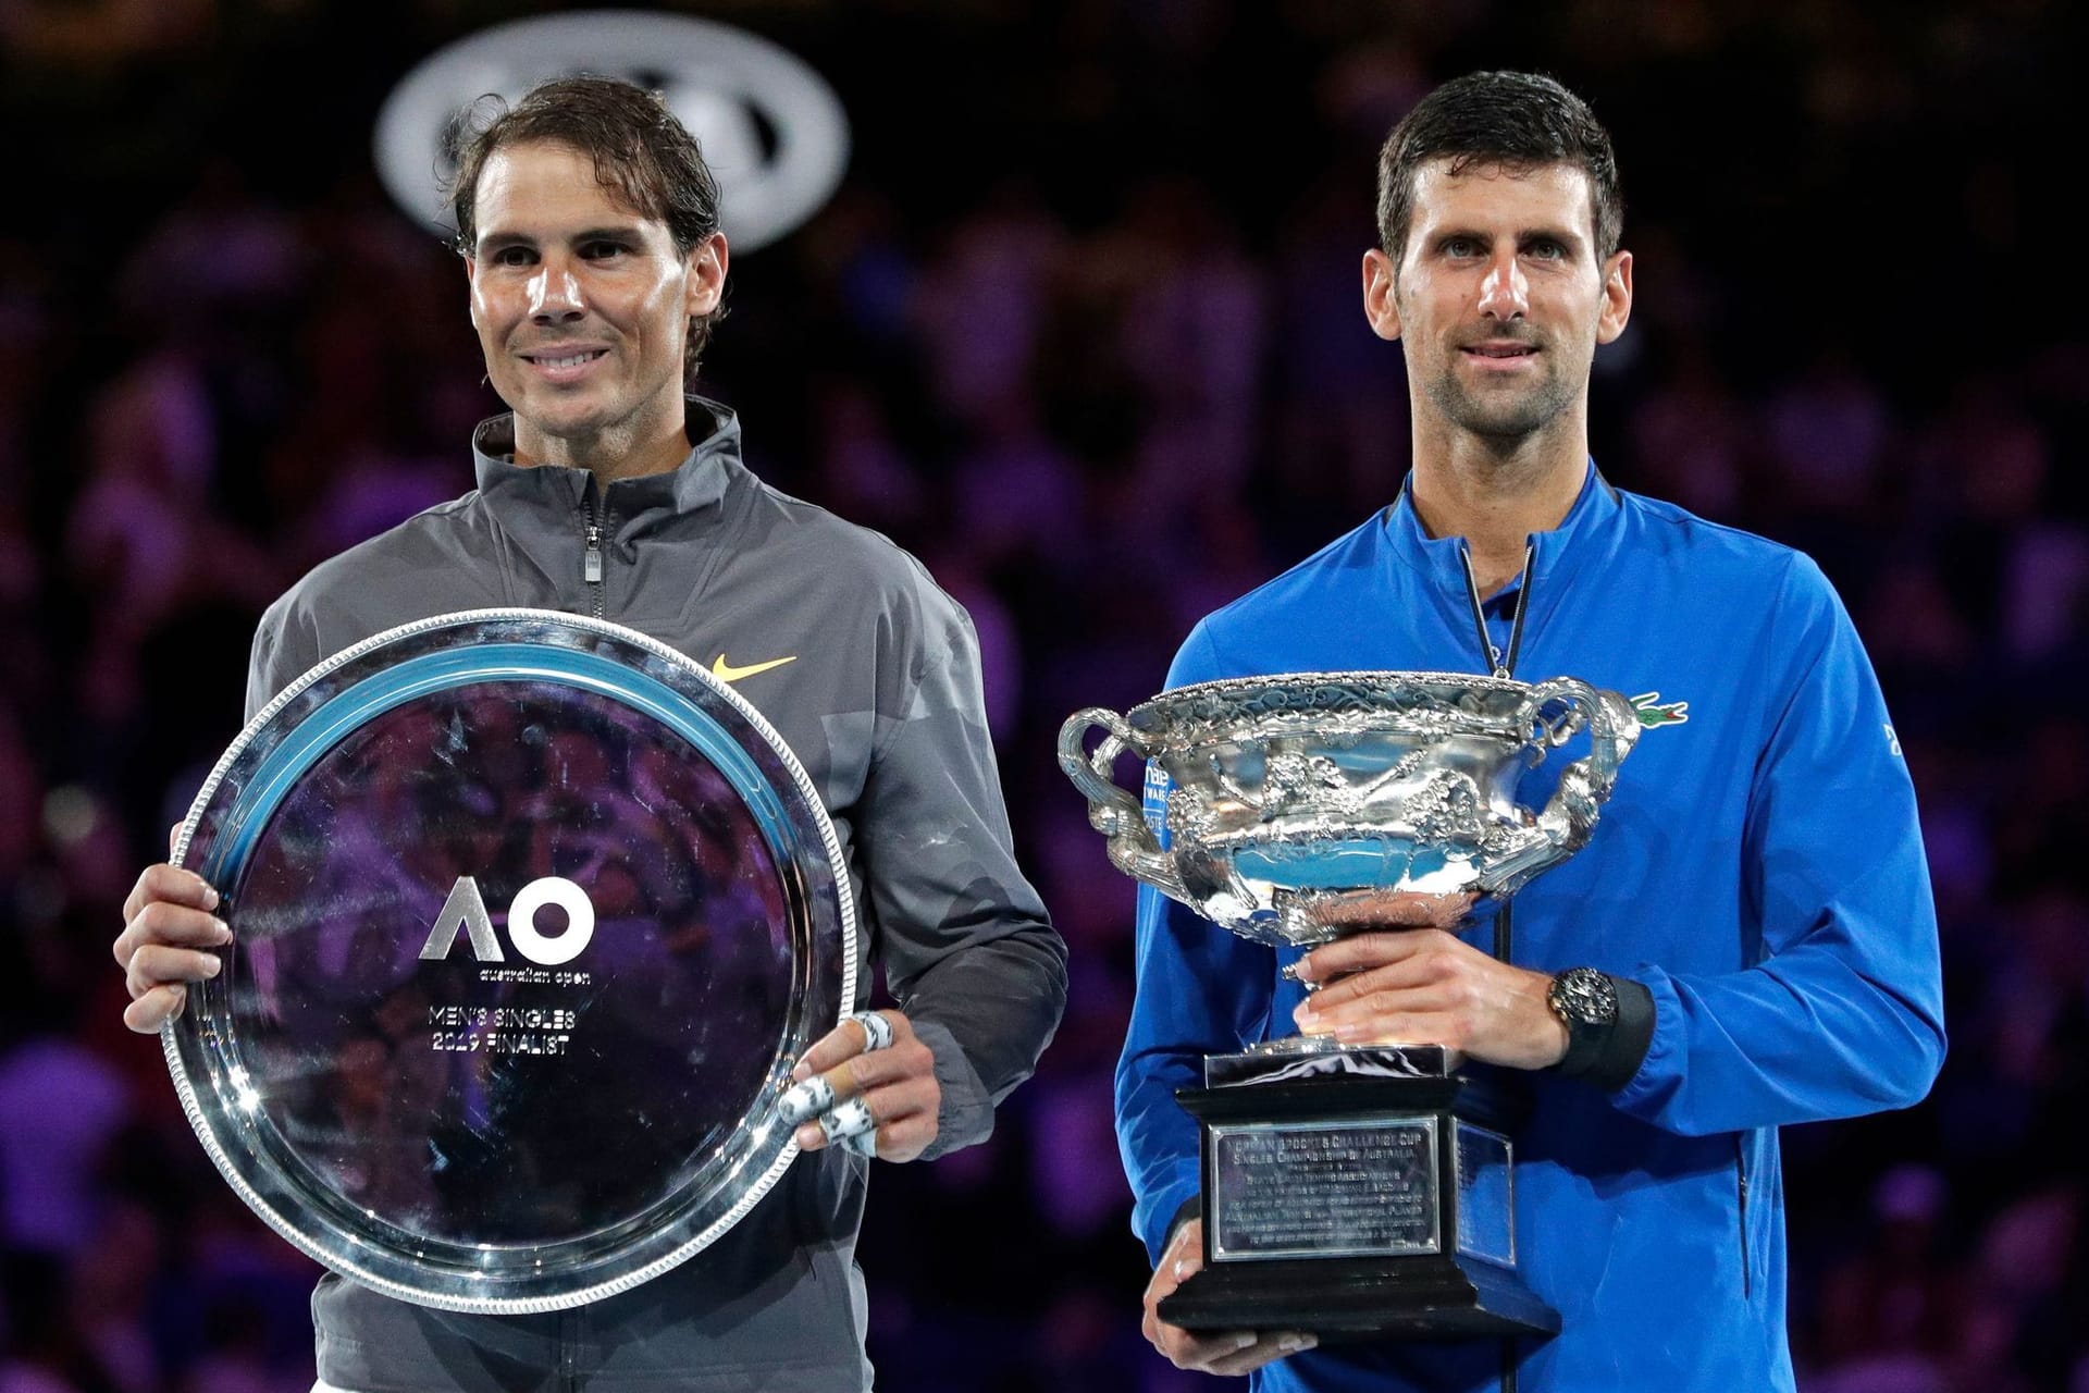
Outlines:
{"label": "man in blue jacket and wristwatch holding the silver cup trophy", "polygon": [[[1642,735],[1592,844],[1517,896],[1515,963],[1435,929],[1301,957],[1141,890],[1118,1134],[1155,1261],[1147,1337],[1258,1389],[1790,1389],[1778,1126],[1905,1107],[1945,1050],[1878,681],[1813,562],[1590,462],[1590,361],[1625,328],[1632,253],[1579,98],[1521,73],[1439,88],[1385,144],[1379,223],[1364,313],[1406,351],[1412,472],[1391,507],[1199,622],[1168,685],[1573,675],[1634,695]],[[1563,973],[1583,990],[1554,992]],[[1529,1071],[1519,1259],[1558,1337],[1322,1349],[1159,1320],[1203,1241],[1174,1090],[1203,1055],[1293,1030]]]}

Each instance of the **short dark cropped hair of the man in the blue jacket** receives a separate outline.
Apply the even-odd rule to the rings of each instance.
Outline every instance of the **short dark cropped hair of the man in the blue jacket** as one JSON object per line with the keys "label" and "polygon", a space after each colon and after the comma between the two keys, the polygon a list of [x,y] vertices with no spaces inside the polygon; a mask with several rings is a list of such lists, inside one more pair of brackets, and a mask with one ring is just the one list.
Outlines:
{"label": "short dark cropped hair of the man in the blue jacket", "polygon": [[1469,73],[1425,96],[1379,150],[1379,244],[1400,263],[1414,221],[1414,175],[1433,159],[1452,173],[1502,165],[1573,165],[1588,175],[1596,255],[1611,257],[1625,232],[1611,132],[1579,96],[1540,73]]}

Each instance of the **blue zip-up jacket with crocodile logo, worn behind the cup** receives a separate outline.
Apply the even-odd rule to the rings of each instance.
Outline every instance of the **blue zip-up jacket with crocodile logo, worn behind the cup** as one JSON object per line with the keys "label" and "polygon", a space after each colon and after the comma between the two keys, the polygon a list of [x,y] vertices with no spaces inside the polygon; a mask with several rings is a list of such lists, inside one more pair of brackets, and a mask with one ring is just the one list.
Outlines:
{"label": "blue zip-up jacket with crocodile logo, worn behind the cup", "polygon": [[[1776,1128],[1905,1107],[1943,1063],[1937,911],[1916,798],[1857,633],[1820,568],[1621,493],[1590,468],[1487,604],[1517,677],[1636,698],[1638,748],[1586,850],[1517,896],[1515,961],[1652,992],[1617,1092],[1535,1073],[1517,1134],[1521,1272],[1565,1322],[1519,1345],[1523,1393],[1790,1389]],[[1168,675],[1485,670],[1460,539],[1408,493],[1191,631]],[[1542,771],[1546,773],[1546,771]],[[1485,944],[1485,938],[1475,938]],[[1295,1034],[1297,957],[1141,888],[1139,998],[1118,1065],[1134,1228],[1157,1259],[1197,1195],[1174,1090],[1207,1053]],[[1500,1343],[1329,1345],[1258,1391],[1494,1389]]]}

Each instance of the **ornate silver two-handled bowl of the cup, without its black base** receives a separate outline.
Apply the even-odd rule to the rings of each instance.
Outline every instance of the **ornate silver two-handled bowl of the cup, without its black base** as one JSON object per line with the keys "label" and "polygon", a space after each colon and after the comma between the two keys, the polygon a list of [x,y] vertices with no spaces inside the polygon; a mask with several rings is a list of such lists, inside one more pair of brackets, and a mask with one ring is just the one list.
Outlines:
{"label": "ornate silver two-handled bowl of the cup, without its black base", "polygon": [[[1583,729],[1588,756],[1523,806],[1519,775]],[[1588,842],[1638,731],[1632,702],[1573,677],[1291,672],[1076,712],[1059,766],[1122,871],[1245,938],[1312,944],[1515,894]],[[1168,775],[1168,848],[1111,777],[1126,752]]]}

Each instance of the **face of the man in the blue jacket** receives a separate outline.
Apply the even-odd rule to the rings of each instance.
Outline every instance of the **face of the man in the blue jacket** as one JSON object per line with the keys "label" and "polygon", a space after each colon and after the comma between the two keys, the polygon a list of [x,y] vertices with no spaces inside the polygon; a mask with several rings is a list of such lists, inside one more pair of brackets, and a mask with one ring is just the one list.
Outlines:
{"label": "face of the man in the blue jacket", "polygon": [[1433,161],[1414,178],[1400,265],[1364,257],[1364,313],[1402,340],[1416,414],[1427,403],[1437,428],[1498,445],[1586,432],[1596,345],[1632,313],[1632,253],[1600,259],[1573,165],[1452,173]]}

